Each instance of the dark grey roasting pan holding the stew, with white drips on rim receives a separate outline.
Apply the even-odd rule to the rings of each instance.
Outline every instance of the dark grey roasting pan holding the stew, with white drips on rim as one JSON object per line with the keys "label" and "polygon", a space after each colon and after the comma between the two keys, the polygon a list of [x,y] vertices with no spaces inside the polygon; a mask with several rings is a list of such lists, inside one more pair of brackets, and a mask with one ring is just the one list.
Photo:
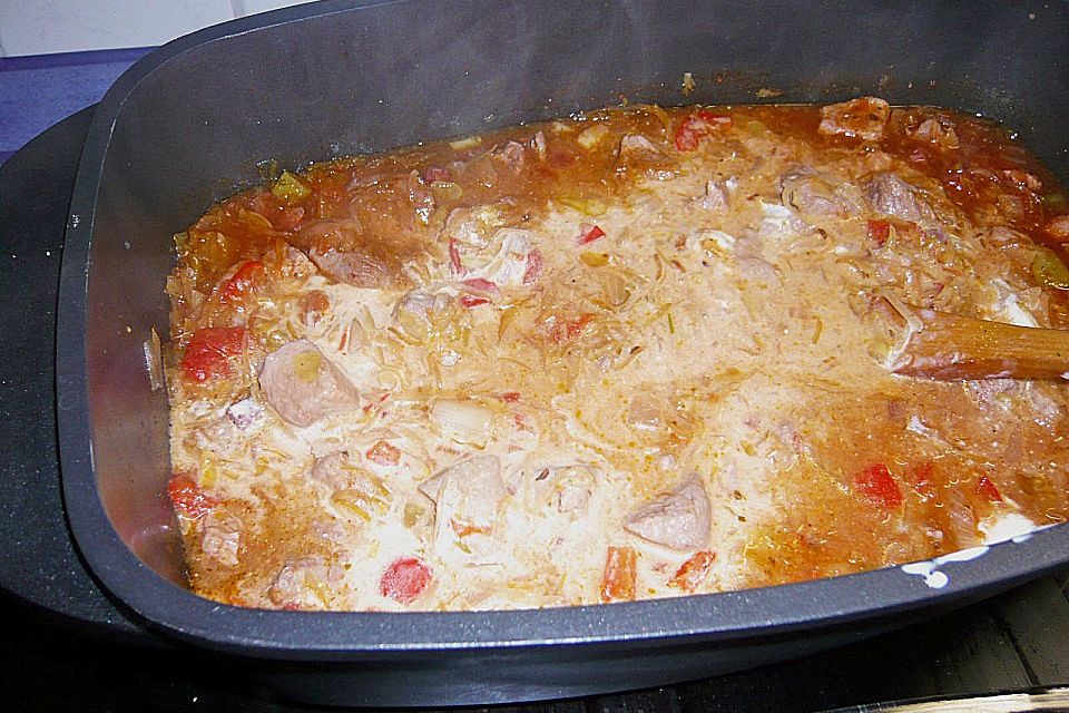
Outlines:
{"label": "dark grey roasting pan holding the stew, with white drips on rim", "polygon": [[[91,572],[147,629],[261,661],[326,703],[449,704],[634,688],[903,626],[1069,563],[1069,526],[939,561],[610,606],[363,614],[243,609],[182,585],[161,490],[167,404],[143,343],[167,333],[171,234],[284,166],[622,100],[876,94],[1006,123],[1069,177],[1065,2],[323,2],[176,40],[92,117],[57,333],[62,489]],[[922,569],[945,575],[923,576]],[[942,585],[942,586],[936,586]]]}

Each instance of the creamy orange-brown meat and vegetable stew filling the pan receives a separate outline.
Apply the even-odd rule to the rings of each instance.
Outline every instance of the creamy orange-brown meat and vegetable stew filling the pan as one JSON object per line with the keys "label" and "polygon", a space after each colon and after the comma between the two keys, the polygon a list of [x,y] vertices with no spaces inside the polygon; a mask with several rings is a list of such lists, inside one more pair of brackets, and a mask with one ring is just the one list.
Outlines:
{"label": "creamy orange-brown meat and vegetable stew filling the pan", "polygon": [[611,108],[284,173],[176,236],[190,584],[566,606],[1065,521],[1065,382],[900,377],[880,325],[1069,326],[1066,212],[1000,127],[872,98]]}

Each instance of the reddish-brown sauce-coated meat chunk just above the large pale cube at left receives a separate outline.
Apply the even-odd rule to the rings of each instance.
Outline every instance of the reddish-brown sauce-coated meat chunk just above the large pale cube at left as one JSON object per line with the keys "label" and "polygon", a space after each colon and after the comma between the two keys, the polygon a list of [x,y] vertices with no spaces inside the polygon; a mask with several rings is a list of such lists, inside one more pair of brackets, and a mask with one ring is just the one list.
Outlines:
{"label": "reddish-brown sauce-coated meat chunk just above the large pale cube at left", "polygon": [[294,237],[320,271],[356,287],[404,287],[410,284],[404,262],[415,248],[401,238],[385,241],[365,235],[356,221],[323,219],[308,223]]}

